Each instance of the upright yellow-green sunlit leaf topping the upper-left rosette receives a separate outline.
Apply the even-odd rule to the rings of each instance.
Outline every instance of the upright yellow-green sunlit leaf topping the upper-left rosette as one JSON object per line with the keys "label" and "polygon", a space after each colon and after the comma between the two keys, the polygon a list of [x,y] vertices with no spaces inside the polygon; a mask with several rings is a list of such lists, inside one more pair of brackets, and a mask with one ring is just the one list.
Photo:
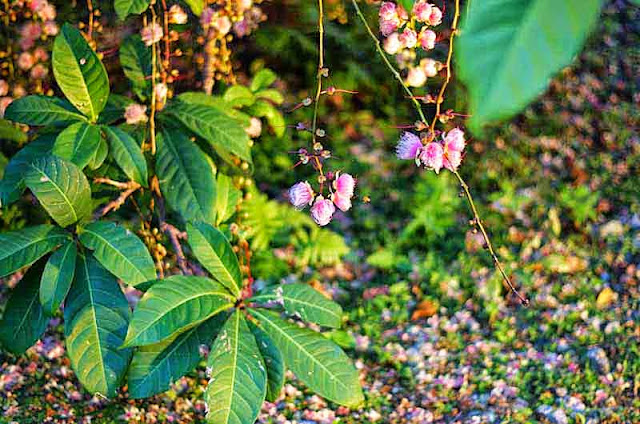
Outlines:
{"label": "upright yellow-green sunlit leaf topping the upper-left rosette", "polygon": [[109,97],[109,77],[80,31],[62,25],[53,43],[53,74],[69,101],[92,122]]}

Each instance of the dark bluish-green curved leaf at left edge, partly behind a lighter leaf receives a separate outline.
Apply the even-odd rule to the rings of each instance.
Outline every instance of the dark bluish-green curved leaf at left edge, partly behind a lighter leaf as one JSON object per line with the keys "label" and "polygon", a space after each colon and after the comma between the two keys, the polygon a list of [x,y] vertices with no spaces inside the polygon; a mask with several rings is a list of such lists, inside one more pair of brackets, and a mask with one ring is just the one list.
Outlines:
{"label": "dark bluish-green curved leaf at left edge, partly behind a lighter leaf", "polygon": [[24,177],[27,174],[25,169],[42,156],[51,154],[54,140],[54,134],[38,137],[11,158],[0,181],[0,206],[6,206],[18,200],[25,188]]}

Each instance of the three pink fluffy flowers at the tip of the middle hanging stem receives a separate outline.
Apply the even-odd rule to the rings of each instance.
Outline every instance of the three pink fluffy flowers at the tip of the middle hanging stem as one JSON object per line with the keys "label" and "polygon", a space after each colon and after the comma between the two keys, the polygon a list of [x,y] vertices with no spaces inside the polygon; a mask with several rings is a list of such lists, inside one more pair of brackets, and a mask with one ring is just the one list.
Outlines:
{"label": "three pink fluffy flowers at the tip of the middle hanging stem", "polygon": [[333,180],[331,198],[326,199],[322,194],[313,191],[307,181],[294,184],[289,189],[289,201],[296,209],[311,206],[311,218],[316,224],[325,226],[333,218],[336,207],[343,212],[351,209],[351,199],[356,186],[356,180],[349,174],[336,173]]}

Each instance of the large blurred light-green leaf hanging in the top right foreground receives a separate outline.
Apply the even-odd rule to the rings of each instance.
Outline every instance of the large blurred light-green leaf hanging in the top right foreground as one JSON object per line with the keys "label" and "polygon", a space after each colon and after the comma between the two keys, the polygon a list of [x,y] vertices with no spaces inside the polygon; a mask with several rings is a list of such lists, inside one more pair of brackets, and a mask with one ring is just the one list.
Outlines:
{"label": "large blurred light-green leaf hanging in the top right foreground", "polygon": [[580,50],[601,0],[472,2],[455,46],[474,131],[506,119],[540,94]]}

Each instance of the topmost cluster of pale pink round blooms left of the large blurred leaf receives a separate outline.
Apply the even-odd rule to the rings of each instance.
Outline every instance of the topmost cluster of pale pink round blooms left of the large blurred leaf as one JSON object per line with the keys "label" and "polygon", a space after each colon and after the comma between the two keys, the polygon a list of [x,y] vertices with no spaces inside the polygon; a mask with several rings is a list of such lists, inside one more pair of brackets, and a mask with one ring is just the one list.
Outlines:
{"label": "topmost cluster of pale pink round blooms left of the large blurred leaf", "polygon": [[421,87],[428,77],[436,76],[442,69],[442,64],[432,59],[422,59],[415,66],[412,63],[415,58],[412,50],[418,47],[425,51],[435,48],[437,34],[431,28],[442,23],[442,11],[426,0],[418,0],[409,15],[401,5],[385,1],[380,6],[379,17],[380,32],[385,37],[384,50],[389,54],[399,55],[399,58],[410,58],[408,66],[405,63],[406,57],[399,60],[401,65],[409,68],[407,84]]}

